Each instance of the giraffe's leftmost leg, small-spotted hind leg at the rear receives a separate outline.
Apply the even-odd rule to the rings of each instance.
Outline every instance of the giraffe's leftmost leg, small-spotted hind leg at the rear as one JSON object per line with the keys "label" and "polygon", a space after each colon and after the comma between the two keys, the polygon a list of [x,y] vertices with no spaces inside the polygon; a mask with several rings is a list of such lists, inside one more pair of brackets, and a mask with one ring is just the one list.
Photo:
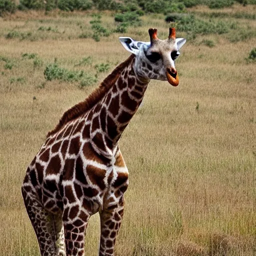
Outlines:
{"label": "giraffe's leftmost leg, small-spotted hind leg at the rear", "polygon": [[33,226],[42,256],[55,256],[55,232],[52,214],[37,199],[35,191],[28,186],[21,188],[25,208]]}

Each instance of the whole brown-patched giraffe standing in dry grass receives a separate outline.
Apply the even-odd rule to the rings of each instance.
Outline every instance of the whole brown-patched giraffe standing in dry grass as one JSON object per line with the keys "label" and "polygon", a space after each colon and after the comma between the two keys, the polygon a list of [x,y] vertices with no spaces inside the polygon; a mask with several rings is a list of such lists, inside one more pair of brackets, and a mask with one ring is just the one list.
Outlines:
{"label": "whole brown-patched giraffe standing in dry grass", "polygon": [[114,253],[128,169],[118,140],[142,101],[150,79],[178,85],[174,60],[184,38],[169,28],[165,40],[149,28],[150,42],[120,37],[132,54],[49,131],[26,170],[24,205],[41,255],[84,255],[89,217],[99,212],[99,256]]}

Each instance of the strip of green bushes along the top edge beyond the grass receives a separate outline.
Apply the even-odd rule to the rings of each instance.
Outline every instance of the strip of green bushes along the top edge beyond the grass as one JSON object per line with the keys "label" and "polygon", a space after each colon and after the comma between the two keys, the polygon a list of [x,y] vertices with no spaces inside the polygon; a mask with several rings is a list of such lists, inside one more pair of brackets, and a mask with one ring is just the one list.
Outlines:
{"label": "strip of green bushes along the top edge beyond the grass", "polygon": [[171,13],[183,12],[185,7],[205,4],[210,8],[231,6],[234,2],[243,5],[256,4],[256,0],[0,0],[0,15],[3,12],[15,12],[16,9],[45,9],[46,11],[58,8],[60,10],[113,10],[117,12],[137,11]]}

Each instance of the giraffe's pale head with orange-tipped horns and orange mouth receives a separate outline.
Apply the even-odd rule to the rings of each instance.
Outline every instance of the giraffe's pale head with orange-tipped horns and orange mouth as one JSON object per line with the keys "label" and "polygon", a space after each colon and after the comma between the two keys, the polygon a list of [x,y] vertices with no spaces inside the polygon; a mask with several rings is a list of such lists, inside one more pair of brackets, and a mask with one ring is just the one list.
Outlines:
{"label": "giraffe's pale head with orange-tipped horns and orange mouth", "polygon": [[124,48],[136,55],[135,72],[146,79],[167,80],[171,85],[178,85],[178,74],[174,60],[179,49],[186,42],[184,38],[176,38],[175,28],[169,28],[169,36],[165,40],[157,38],[157,29],[149,28],[150,42],[135,41],[130,37],[119,37]]}

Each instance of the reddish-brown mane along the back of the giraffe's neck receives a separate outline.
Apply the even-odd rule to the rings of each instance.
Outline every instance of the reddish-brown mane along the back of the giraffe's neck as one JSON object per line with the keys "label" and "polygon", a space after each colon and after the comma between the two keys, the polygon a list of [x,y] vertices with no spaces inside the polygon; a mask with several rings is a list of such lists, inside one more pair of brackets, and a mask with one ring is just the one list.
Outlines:
{"label": "reddish-brown mane along the back of the giraffe's neck", "polygon": [[58,124],[53,130],[47,133],[46,137],[49,137],[50,135],[59,131],[60,128],[67,122],[76,119],[78,116],[93,107],[100,99],[102,99],[105,93],[114,85],[123,68],[127,66],[134,57],[135,55],[131,54],[127,59],[116,66],[114,70],[99,84],[99,86],[95,88],[83,101],[67,109],[59,119]]}

